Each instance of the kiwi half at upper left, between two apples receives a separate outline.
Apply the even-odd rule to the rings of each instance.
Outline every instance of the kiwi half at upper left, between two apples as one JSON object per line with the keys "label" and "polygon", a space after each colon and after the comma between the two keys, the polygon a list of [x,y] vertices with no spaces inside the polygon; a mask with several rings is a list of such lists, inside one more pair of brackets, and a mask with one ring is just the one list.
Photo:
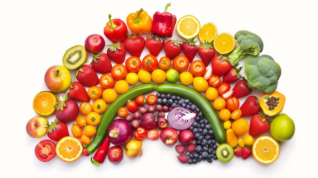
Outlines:
{"label": "kiwi half at upper left, between two apples", "polygon": [[68,49],[63,56],[63,65],[70,69],[78,69],[87,59],[87,51],[84,46],[76,45]]}

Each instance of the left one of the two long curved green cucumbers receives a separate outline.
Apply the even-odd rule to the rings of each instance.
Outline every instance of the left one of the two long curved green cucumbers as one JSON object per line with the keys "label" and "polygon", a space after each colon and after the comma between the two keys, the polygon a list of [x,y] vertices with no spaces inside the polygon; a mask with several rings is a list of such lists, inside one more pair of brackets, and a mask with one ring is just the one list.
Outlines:
{"label": "left one of the two long curved green cucumbers", "polygon": [[107,129],[109,124],[113,121],[117,115],[117,111],[120,107],[124,106],[128,100],[135,99],[137,96],[150,93],[155,90],[155,85],[140,84],[130,88],[127,92],[118,95],[116,100],[110,103],[101,117],[101,121],[96,129],[96,134],[94,135],[90,144],[86,148],[86,152],[91,154],[95,152],[106,138]]}

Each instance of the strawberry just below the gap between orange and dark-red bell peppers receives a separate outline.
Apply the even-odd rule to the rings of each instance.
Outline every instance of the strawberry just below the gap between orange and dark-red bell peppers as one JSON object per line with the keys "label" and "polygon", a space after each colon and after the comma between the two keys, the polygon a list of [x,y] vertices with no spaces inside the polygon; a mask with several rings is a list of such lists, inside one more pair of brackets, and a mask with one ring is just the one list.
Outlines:
{"label": "strawberry just below the gap between orange and dark-red bell peppers", "polygon": [[147,36],[145,41],[145,46],[148,49],[149,53],[158,56],[161,50],[165,46],[165,39],[162,37],[157,37],[152,34]]}

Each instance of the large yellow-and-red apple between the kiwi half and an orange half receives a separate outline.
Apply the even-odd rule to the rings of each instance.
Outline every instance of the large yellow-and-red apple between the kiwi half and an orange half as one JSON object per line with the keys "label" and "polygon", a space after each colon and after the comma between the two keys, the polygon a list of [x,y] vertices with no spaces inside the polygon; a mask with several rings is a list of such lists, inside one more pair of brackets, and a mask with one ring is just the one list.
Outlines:
{"label": "large yellow-and-red apple between the kiwi half and an orange half", "polygon": [[52,92],[64,92],[70,87],[72,76],[65,66],[53,65],[46,70],[44,82]]}

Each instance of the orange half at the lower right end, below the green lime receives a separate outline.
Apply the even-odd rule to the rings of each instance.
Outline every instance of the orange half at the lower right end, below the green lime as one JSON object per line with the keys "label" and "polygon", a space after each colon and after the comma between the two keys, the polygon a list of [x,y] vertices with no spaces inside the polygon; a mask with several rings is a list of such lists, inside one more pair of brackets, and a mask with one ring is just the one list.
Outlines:
{"label": "orange half at the lower right end, below the green lime", "polygon": [[271,136],[260,136],[252,145],[252,155],[260,163],[271,164],[279,156],[280,147],[278,142]]}

